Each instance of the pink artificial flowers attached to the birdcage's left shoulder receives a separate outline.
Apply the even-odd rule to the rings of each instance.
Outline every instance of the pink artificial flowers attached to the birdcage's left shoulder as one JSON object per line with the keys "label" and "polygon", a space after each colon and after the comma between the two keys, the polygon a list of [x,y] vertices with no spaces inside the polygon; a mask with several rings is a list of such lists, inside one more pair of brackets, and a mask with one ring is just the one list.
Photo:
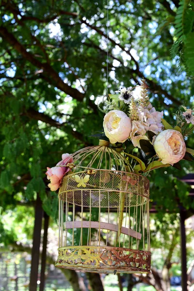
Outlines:
{"label": "pink artificial flowers attached to the birdcage's left shoulder", "polygon": [[70,170],[69,167],[60,167],[60,166],[64,166],[70,162],[73,162],[73,158],[71,157],[71,155],[63,154],[62,161],[56,164],[58,167],[47,168],[46,175],[47,175],[48,180],[50,180],[50,183],[48,184],[48,186],[51,191],[56,191],[59,188],[62,178]]}

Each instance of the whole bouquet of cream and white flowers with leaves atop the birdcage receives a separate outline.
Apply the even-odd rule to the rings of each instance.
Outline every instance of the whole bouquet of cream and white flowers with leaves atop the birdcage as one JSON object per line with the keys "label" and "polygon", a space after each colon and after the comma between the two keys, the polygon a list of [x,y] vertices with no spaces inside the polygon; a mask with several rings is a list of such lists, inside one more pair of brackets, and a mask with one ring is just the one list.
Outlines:
{"label": "whole bouquet of cream and white flowers with leaves atop the birdcage", "polygon": [[184,112],[175,114],[177,124],[173,128],[163,119],[163,112],[151,105],[144,80],[115,93],[107,96],[104,110],[98,107],[106,113],[104,135],[113,146],[122,148],[128,159],[135,160],[136,173],[170,165],[181,169],[180,160],[194,160],[194,150],[186,148],[184,141],[194,131],[192,109],[182,106]]}

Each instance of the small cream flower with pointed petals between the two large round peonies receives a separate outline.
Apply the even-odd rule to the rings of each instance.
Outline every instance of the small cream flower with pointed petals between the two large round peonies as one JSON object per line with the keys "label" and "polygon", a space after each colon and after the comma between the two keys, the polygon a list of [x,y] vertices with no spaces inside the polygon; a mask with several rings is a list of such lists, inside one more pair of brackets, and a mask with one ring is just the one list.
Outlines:
{"label": "small cream flower with pointed petals between the two large round peonies", "polygon": [[144,125],[141,124],[140,121],[133,120],[132,129],[130,132],[130,138],[131,138],[131,142],[133,146],[138,146],[139,148],[141,148],[140,143],[139,143],[140,140],[141,139],[148,140],[145,134],[146,134],[146,129]]}

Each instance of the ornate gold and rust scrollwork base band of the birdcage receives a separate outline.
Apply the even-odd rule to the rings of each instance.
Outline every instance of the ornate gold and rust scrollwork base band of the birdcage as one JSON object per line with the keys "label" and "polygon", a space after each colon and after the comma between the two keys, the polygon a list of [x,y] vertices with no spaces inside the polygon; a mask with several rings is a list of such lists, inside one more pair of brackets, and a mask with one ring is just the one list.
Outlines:
{"label": "ornate gold and rust scrollwork base band of the birdcage", "polygon": [[110,246],[60,247],[55,266],[94,273],[150,273],[151,253]]}

